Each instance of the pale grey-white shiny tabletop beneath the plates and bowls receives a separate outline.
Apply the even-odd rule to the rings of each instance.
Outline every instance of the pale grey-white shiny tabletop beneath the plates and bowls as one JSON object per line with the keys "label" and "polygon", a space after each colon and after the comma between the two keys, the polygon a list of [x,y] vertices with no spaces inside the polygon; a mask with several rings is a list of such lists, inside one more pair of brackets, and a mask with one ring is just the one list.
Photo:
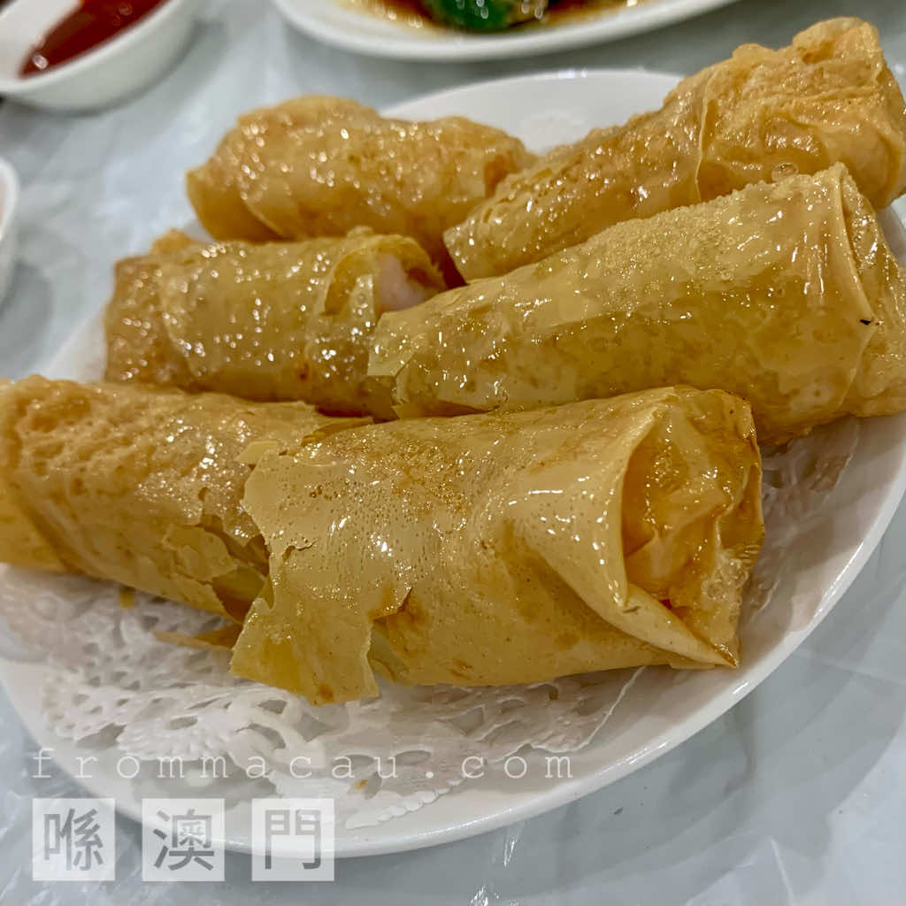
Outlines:
{"label": "pale grey-white shiny tabletop beneath the plates and bowls", "polygon": [[[641,66],[695,72],[739,43],[787,43],[832,15],[878,25],[906,83],[902,0],[740,0],[631,40],[488,63],[397,63],[342,53],[260,0],[207,6],[173,72],[127,104],[65,117],[0,106],[0,156],[23,182],[21,246],[0,308],[0,374],[39,371],[103,302],[110,265],[188,220],[181,172],[239,111],[294,93],[376,107],[499,75]],[[155,172],[153,187],[137,174]],[[176,166],[170,166],[174,162]],[[125,210],[124,210],[125,208]],[[130,217],[130,208],[134,217]],[[132,226],[123,230],[122,224]],[[73,226],[74,225],[74,226]],[[51,279],[53,276],[53,279]],[[0,902],[901,903],[906,897],[906,506],[850,591],[752,695],[651,766],[522,824],[418,853],[347,860],[333,884],[255,884],[230,856],[226,884],[143,884],[140,834],[120,824],[117,878],[99,888],[30,876],[34,743],[0,695]]]}

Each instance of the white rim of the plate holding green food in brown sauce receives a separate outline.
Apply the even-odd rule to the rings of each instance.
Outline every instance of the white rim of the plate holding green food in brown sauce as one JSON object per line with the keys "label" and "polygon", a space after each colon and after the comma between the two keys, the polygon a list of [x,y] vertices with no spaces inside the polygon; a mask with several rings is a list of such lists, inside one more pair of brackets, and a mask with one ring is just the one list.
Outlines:
{"label": "white rim of the plate holding green food in brown sauce", "polygon": [[[350,7],[342,9],[336,0],[326,0],[340,7],[350,22],[356,18],[381,22],[379,16],[360,12]],[[737,0],[646,0],[630,8],[602,10],[597,16],[583,17],[575,23],[564,23],[546,30],[521,34],[460,34],[450,30],[448,36],[439,38],[402,37],[357,34],[331,24],[317,15],[308,14],[304,8],[310,0],[274,0],[279,13],[292,27],[309,37],[352,53],[393,60],[427,60],[456,62],[468,60],[506,60],[537,53],[556,53],[575,50],[596,43],[608,43],[634,34],[653,31],[684,19],[708,13],[737,3]]]}

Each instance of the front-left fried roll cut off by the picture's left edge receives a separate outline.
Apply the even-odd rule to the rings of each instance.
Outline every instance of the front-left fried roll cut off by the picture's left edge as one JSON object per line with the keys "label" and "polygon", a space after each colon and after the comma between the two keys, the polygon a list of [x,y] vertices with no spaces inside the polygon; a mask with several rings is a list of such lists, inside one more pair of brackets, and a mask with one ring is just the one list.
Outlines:
{"label": "front-left fried roll cut off by the picture's left edge", "polygon": [[111,579],[241,620],[267,573],[241,505],[255,455],[363,421],[214,393],[6,382],[0,561]]}

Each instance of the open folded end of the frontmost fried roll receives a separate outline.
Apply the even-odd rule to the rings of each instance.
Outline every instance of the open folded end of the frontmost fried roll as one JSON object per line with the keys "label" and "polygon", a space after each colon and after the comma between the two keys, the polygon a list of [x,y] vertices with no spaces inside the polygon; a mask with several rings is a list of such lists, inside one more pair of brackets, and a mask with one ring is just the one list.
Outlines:
{"label": "open folded end of the frontmost fried roll", "polygon": [[627,609],[638,608],[643,636],[651,625],[646,641],[735,666],[742,587],[761,543],[760,482],[757,464],[741,455],[754,443],[745,426],[722,445],[697,442],[716,414],[664,419],[634,450],[622,487],[622,545]]}

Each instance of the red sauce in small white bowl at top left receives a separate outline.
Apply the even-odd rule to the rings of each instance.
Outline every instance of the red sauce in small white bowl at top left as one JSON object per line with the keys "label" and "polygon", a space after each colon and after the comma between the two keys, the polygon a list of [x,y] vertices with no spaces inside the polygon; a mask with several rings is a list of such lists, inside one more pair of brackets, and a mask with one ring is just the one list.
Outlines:
{"label": "red sauce in small white bowl at top left", "polygon": [[46,72],[92,50],[138,22],[166,0],[80,0],[28,52],[20,75]]}

